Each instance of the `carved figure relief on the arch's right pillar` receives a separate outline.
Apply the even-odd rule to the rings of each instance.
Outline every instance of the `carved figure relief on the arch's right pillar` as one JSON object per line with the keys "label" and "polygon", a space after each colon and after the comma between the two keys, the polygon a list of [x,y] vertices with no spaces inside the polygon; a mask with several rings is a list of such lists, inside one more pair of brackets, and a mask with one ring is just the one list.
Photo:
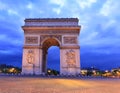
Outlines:
{"label": "carved figure relief on the arch's right pillar", "polygon": [[66,51],[66,63],[68,67],[75,67],[76,65],[76,59],[75,59],[75,51],[69,50]]}

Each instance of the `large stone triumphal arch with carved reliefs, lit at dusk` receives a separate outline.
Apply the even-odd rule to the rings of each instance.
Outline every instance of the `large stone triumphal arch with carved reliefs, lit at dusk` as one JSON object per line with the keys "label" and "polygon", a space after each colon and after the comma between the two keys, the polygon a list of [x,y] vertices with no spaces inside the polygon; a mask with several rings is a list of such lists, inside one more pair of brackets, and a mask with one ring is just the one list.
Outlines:
{"label": "large stone triumphal arch with carved reliefs, lit at dusk", "polygon": [[25,19],[22,74],[46,73],[47,50],[51,46],[60,48],[60,74],[79,74],[78,21],[77,18]]}

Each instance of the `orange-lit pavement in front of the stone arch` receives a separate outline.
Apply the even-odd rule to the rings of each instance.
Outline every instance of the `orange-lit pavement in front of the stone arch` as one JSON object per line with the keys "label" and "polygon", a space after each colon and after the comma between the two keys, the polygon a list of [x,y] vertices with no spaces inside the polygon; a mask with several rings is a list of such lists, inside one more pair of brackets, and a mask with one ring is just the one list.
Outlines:
{"label": "orange-lit pavement in front of the stone arch", "polygon": [[120,93],[120,79],[0,75],[0,93]]}

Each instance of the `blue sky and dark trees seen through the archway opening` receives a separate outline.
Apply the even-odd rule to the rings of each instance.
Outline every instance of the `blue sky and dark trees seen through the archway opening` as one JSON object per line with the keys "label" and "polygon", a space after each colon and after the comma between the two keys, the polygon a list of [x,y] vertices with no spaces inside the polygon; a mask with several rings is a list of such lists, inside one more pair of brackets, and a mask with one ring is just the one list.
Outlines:
{"label": "blue sky and dark trees seen through the archway opening", "polygon": [[51,46],[47,55],[47,73],[57,75],[60,72],[60,49],[58,46]]}

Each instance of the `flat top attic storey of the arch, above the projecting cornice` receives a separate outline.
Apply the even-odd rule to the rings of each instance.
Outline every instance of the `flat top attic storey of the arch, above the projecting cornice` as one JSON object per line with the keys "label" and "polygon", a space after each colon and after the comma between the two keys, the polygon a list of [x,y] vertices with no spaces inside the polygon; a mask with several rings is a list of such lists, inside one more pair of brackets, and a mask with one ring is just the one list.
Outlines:
{"label": "flat top attic storey of the arch, above the projecting cornice", "polygon": [[78,26],[78,18],[27,18],[24,26],[38,26],[38,27],[68,27]]}

